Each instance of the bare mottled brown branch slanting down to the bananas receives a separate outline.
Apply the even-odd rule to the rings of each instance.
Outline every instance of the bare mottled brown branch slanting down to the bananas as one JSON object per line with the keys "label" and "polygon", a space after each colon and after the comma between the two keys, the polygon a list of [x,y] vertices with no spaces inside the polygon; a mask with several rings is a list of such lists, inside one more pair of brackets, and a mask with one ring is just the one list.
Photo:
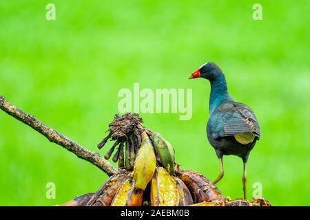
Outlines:
{"label": "bare mottled brown branch slanting down to the bananas", "polygon": [[12,103],[10,103],[4,96],[0,96],[0,109],[12,115],[17,120],[31,126],[32,129],[38,131],[42,135],[48,138],[50,142],[54,142],[55,144],[59,144],[66,148],[68,151],[71,151],[76,156],[81,159],[85,159],[87,162],[90,162],[103,170],[107,175],[111,176],[118,172],[118,169],[112,166],[110,162],[107,162],[106,159],[101,157],[99,153],[87,150],[83,146],[76,144],[76,142],[70,140],[65,135],[62,135],[58,131],[52,129],[50,126],[47,126],[34,118],[33,115],[25,113],[15,107]]}

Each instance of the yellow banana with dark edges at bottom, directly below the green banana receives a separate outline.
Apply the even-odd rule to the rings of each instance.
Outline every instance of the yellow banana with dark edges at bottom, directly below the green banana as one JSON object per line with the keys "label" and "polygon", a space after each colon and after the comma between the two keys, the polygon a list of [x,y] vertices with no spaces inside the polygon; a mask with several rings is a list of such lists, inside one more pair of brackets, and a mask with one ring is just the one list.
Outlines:
{"label": "yellow banana with dark edges at bottom, directly below the green banana", "polygon": [[178,190],[172,176],[157,167],[151,181],[151,206],[178,206]]}

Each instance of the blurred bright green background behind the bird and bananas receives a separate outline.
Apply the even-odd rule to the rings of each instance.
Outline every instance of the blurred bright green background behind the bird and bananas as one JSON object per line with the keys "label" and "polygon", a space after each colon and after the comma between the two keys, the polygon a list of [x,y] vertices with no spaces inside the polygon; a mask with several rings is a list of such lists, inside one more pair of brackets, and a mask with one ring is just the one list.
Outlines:
{"label": "blurred bright green background behind the bird and bananas", "polygon": [[[262,4],[254,21],[252,6]],[[56,21],[45,6],[56,5]],[[193,116],[141,114],[176,150],[176,161],[213,180],[207,142],[209,83],[187,80],[214,61],[231,95],[254,109],[261,140],[247,167],[276,206],[310,205],[310,1],[0,2],[0,94],[79,144],[97,151],[118,112],[118,91],[192,88]],[[111,144],[111,143],[109,143]],[[107,146],[101,151],[103,155]],[[51,206],[96,191],[92,166],[0,111],[0,205]],[[242,160],[224,157],[224,195],[242,197]],[[46,184],[56,199],[46,199]]]}

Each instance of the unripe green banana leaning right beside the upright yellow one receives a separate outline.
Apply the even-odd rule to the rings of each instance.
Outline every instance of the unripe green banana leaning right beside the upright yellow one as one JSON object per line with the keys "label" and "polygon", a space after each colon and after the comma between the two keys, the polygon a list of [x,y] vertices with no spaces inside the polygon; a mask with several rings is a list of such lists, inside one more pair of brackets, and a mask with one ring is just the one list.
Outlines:
{"label": "unripe green banana leaning right beside the upright yellow one", "polygon": [[174,148],[165,140],[160,133],[154,132],[150,136],[154,144],[156,155],[159,157],[161,164],[169,171],[170,175],[175,175],[174,172]]}

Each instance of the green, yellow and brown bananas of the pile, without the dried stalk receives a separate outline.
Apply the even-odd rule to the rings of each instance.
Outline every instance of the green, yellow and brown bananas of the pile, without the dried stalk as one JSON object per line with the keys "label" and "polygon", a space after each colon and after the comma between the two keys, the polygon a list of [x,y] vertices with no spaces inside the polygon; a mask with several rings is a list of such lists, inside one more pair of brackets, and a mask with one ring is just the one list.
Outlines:
{"label": "green, yellow and brown bananas of the pile, without the dried stalk", "polygon": [[76,197],[63,206],[224,205],[223,195],[209,179],[175,165],[174,148],[159,133],[142,131],[134,157],[132,171],[123,167],[97,192]]}

